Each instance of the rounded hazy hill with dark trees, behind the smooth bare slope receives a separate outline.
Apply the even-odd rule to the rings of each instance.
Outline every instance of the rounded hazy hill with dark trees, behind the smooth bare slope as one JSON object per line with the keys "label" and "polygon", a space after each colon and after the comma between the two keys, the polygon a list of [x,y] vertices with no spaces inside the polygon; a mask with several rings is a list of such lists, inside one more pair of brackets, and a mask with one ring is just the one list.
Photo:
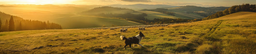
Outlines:
{"label": "rounded hazy hill with dark trees, behind the smooth bare slope", "polygon": [[145,20],[146,13],[140,11],[134,11],[132,9],[126,8],[116,8],[116,7],[98,7],[88,11],[80,12],[79,14],[85,16],[100,16],[108,18],[122,18],[122,19],[136,19]]}

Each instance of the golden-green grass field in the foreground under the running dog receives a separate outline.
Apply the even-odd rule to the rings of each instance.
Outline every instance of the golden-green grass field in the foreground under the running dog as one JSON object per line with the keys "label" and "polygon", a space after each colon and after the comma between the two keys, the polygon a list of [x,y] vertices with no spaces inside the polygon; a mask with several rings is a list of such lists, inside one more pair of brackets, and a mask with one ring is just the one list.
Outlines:
{"label": "golden-green grass field in the foreground under the running dog", "polygon": [[[115,30],[33,30],[0,32],[0,54],[256,54],[256,13],[238,12],[220,18]],[[123,49],[120,35],[143,32],[144,47]]]}

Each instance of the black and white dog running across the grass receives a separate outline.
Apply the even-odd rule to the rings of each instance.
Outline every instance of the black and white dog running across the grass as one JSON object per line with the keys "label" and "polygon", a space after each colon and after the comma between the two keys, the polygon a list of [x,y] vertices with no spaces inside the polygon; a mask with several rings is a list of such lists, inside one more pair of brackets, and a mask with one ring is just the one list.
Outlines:
{"label": "black and white dog running across the grass", "polygon": [[[140,41],[142,40],[142,37],[145,37],[145,35],[140,32],[140,34],[136,35],[135,37],[129,37],[129,38],[126,38],[124,36],[120,36],[121,40],[125,40],[125,46],[129,45],[130,48],[132,48],[132,44],[139,44],[140,46],[143,47],[143,45],[140,44]],[[125,46],[124,46],[124,49],[125,49]]]}

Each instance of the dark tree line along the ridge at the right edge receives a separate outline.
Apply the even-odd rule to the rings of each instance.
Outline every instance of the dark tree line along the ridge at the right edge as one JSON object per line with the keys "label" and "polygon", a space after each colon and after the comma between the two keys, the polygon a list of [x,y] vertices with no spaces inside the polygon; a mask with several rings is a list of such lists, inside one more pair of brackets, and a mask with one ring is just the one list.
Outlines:
{"label": "dark tree line along the ridge at the right edge", "polygon": [[235,5],[235,6],[232,6],[224,11],[218,11],[212,15],[209,15],[208,17],[203,18],[202,20],[215,19],[215,18],[219,18],[219,17],[225,16],[225,15],[235,13],[235,12],[239,12],[239,11],[256,12],[256,5],[255,4]]}

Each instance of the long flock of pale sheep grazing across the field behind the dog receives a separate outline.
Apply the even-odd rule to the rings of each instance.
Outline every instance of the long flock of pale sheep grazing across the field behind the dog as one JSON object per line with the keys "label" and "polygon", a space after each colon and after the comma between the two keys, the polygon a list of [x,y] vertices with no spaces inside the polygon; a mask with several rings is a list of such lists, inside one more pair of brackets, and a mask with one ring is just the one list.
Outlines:
{"label": "long flock of pale sheep grazing across the field behind the dog", "polygon": [[172,25],[172,24],[182,24],[182,23],[190,23],[190,22],[169,23],[169,24],[153,24],[153,25],[136,25],[136,26],[121,26],[121,27],[98,27],[98,28],[83,28],[83,29],[93,29],[93,30],[110,29],[110,30],[114,30],[114,29],[122,28],[122,29],[120,29],[120,32],[126,32],[128,30],[128,28],[138,27],[138,30],[145,30],[145,28],[149,28],[149,27],[164,27],[164,26],[168,26],[168,25]]}

